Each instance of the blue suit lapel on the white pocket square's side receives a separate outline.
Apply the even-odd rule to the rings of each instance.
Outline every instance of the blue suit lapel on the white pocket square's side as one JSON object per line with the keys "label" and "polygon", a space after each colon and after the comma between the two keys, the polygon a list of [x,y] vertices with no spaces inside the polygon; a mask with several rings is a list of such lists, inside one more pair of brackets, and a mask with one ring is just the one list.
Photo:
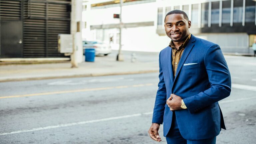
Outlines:
{"label": "blue suit lapel on the white pocket square's side", "polygon": [[178,77],[178,75],[179,75],[179,73],[180,73],[180,69],[182,68],[182,66],[183,66],[183,64],[184,64],[184,62],[185,62],[185,60],[187,59],[187,57],[188,57],[190,51],[191,51],[192,48],[194,47],[194,45],[195,45],[194,42],[195,42],[195,41],[196,41],[196,37],[193,36],[193,35],[191,35],[190,40],[189,40],[187,46],[185,47],[185,49],[184,49],[184,51],[183,51],[183,54],[182,54],[182,56],[181,56],[181,58],[180,58],[180,61],[179,61],[178,67],[177,67],[177,71],[176,71],[176,76],[175,76],[174,81],[173,81],[173,85],[174,85],[175,81],[177,81],[176,79],[177,79],[177,77]]}

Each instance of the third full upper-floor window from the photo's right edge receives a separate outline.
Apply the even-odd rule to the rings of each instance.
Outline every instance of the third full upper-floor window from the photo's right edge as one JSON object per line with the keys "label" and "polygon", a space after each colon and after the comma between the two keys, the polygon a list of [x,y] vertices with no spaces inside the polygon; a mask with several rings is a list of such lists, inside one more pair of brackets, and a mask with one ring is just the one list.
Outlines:
{"label": "third full upper-floor window from the photo's right edge", "polygon": [[230,24],[231,0],[222,1],[222,23]]}

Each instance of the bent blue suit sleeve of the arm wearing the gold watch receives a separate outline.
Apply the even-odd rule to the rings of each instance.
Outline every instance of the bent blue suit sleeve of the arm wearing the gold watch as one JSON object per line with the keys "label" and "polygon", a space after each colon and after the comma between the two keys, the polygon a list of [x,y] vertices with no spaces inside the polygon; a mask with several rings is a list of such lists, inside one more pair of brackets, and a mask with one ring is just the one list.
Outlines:
{"label": "bent blue suit sleeve of the arm wearing the gold watch", "polygon": [[205,53],[204,64],[210,88],[183,99],[191,113],[220,101],[230,95],[231,77],[227,63],[218,45],[211,45]]}

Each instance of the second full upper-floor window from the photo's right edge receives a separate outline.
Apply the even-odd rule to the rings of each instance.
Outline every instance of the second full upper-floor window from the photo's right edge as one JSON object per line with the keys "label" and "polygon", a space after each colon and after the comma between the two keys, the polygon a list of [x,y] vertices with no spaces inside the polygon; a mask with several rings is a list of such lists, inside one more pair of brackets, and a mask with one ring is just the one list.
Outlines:
{"label": "second full upper-floor window from the photo's right edge", "polygon": [[234,23],[242,23],[243,21],[243,0],[234,0]]}

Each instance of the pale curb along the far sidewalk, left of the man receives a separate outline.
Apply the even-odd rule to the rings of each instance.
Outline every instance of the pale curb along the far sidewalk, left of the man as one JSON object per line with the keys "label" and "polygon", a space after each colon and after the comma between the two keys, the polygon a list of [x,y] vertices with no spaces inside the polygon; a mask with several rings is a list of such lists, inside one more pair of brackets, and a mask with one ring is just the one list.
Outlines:
{"label": "pale curb along the far sidewalk, left of the man", "polygon": [[45,80],[45,79],[58,79],[58,78],[76,78],[76,77],[97,77],[97,76],[143,74],[143,73],[155,73],[155,72],[159,72],[159,70],[116,72],[116,73],[99,73],[99,74],[77,74],[77,75],[66,75],[66,76],[46,76],[46,77],[30,77],[30,78],[9,78],[9,79],[0,79],[0,82]]}

